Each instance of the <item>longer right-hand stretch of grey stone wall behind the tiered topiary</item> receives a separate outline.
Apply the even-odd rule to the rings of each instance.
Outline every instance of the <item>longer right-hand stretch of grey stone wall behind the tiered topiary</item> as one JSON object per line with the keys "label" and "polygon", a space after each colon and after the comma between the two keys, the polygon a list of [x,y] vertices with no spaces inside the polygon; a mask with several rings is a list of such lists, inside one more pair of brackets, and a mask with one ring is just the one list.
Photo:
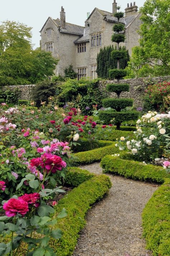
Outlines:
{"label": "longer right-hand stretch of grey stone wall behind the tiered topiary", "polygon": [[[130,84],[129,92],[122,92],[120,98],[132,98],[134,99],[135,107],[143,106],[143,96],[147,85],[151,83],[159,83],[170,80],[170,76],[161,76],[156,78],[134,78],[120,80],[120,83]],[[99,82],[99,90],[106,92],[106,84],[117,83],[117,80],[103,80]],[[116,93],[107,93],[108,97],[117,97]]]}

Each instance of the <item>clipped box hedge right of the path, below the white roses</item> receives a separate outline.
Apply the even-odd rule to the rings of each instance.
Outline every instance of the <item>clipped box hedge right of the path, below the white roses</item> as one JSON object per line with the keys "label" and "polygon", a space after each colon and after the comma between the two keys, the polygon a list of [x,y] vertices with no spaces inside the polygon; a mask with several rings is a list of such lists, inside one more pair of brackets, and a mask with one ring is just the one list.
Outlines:
{"label": "clipped box hedge right of the path, below the white roses", "polygon": [[101,160],[100,166],[103,168],[103,173],[111,172],[134,180],[163,183],[167,177],[166,171],[160,166],[124,160],[112,155],[106,155]]}

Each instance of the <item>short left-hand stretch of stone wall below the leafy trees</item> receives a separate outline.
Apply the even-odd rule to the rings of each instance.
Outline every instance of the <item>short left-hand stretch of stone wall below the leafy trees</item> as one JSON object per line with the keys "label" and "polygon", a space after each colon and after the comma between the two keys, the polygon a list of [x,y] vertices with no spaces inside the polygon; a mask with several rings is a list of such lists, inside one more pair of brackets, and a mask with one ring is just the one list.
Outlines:
{"label": "short left-hand stretch of stone wall below the leafy trees", "polygon": [[4,90],[14,90],[18,88],[21,91],[21,96],[19,99],[30,99],[32,96],[32,90],[35,87],[35,84],[29,85],[14,85],[14,86],[4,86]]}

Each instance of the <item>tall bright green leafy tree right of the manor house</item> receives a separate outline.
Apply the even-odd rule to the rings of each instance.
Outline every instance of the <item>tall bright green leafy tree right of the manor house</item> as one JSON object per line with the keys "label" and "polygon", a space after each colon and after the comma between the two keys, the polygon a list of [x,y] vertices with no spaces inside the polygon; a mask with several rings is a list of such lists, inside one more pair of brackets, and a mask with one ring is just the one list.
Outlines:
{"label": "tall bright green leafy tree right of the manor house", "polygon": [[146,0],[140,12],[140,46],[132,49],[129,77],[170,75],[170,0]]}

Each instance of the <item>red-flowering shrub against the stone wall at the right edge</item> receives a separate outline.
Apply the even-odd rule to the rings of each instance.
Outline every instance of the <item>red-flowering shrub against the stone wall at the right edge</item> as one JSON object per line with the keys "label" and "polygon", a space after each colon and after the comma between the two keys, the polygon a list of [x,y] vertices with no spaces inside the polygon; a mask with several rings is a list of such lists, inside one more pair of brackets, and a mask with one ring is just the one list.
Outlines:
{"label": "red-flowering shrub against the stone wall at the right edge", "polygon": [[[147,87],[146,100],[156,110],[166,111],[170,109],[170,82],[162,82]],[[148,103],[147,103],[148,104]]]}

